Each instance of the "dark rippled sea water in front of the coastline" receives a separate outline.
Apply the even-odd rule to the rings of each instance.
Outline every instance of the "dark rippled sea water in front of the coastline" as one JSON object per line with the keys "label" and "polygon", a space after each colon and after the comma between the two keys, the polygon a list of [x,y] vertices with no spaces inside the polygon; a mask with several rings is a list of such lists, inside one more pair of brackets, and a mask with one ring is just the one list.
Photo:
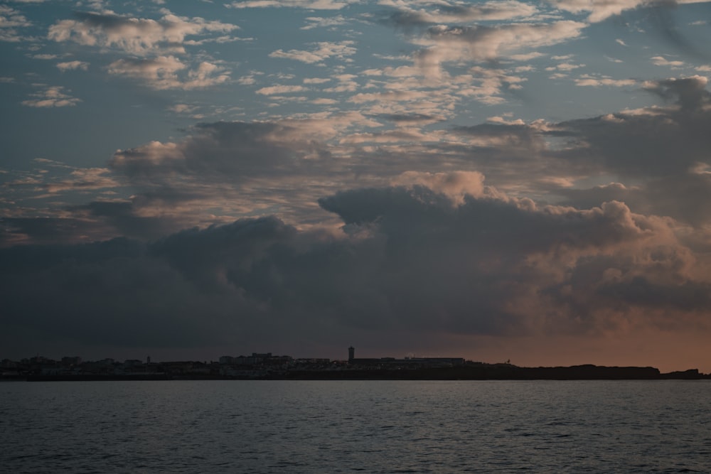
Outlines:
{"label": "dark rippled sea water in front of the coastline", "polygon": [[0,470],[711,472],[711,383],[6,382]]}

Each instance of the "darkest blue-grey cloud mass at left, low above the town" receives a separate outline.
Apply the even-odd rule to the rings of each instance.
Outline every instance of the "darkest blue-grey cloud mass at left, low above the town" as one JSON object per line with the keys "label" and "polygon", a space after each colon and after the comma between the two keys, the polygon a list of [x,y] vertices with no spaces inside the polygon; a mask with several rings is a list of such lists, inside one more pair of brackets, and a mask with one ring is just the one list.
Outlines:
{"label": "darkest blue-grey cloud mass at left, low above the town", "polygon": [[[266,230],[250,230],[260,226]],[[37,338],[84,345],[186,347],[243,338],[248,328],[262,324],[254,319],[260,313],[257,305],[237,286],[218,284],[221,262],[186,263],[190,257],[176,252],[204,258],[231,249],[237,259],[244,256],[241,249],[264,244],[270,227],[278,238],[278,222],[256,220],[208,228],[193,242],[186,231],[149,245],[114,239],[3,249],[3,326],[31,328]],[[249,266],[245,262],[240,259]],[[205,284],[210,271],[213,280]],[[4,345],[12,337],[12,331],[6,331]]]}

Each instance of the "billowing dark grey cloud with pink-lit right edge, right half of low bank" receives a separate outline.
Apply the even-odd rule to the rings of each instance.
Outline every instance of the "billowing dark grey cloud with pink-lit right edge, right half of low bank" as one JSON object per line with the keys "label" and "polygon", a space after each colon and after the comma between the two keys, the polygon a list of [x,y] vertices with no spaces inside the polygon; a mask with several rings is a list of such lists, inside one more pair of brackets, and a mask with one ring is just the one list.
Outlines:
{"label": "billowing dark grey cloud with pink-lit right edge, right half of low bank", "polygon": [[[395,299],[407,301],[407,306],[397,313],[412,315],[413,319],[427,318],[426,315],[437,319],[434,315],[441,315],[451,318],[445,321],[459,320],[464,326],[481,317],[486,321],[479,321],[483,326],[477,330],[491,329],[496,324],[502,324],[498,330],[503,330],[514,321],[513,327],[521,328],[527,325],[526,321],[533,323],[538,311],[556,314],[562,318],[561,328],[571,328],[572,321],[566,320],[572,314],[579,314],[583,308],[591,308],[588,313],[596,311],[594,299],[606,291],[606,275],[613,273],[611,269],[626,275],[620,284],[634,284],[637,276],[645,275],[651,280],[659,279],[660,286],[665,286],[661,284],[666,278],[662,268],[678,268],[672,279],[683,282],[688,280],[686,272],[693,262],[688,249],[675,242],[663,220],[634,215],[624,204],[614,201],[590,210],[539,210],[525,201],[466,195],[461,205],[453,206],[451,201],[441,200],[424,188],[392,188],[341,193],[321,200],[321,205],[341,215],[347,225],[375,225],[383,232],[387,237],[385,268],[398,268],[397,277],[412,281],[422,279],[424,274],[436,274],[438,279],[444,279],[437,285],[432,280],[427,280],[429,285],[424,279],[416,280],[416,289],[409,288]],[[520,238],[522,235],[526,237]],[[639,247],[639,252],[633,250],[634,246]],[[662,249],[666,249],[667,257],[661,254],[657,262],[665,258],[669,262],[652,270],[653,253]],[[624,263],[616,266],[614,256],[625,254],[628,257]],[[635,261],[629,259],[630,254],[640,256],[637,268],[632,263]],[[595,268],[592,262],[604,267]],[[564,269],[566,264],[572,265],[572,271]],[[587,282],[582,281],[583,275]],[[465,281],[469,284],[463,284]],[[584,289],[584,284],[592,286]],[[566,285],[575,286],[574,294],[584,303],[566,301],[560,293]],[[708,291],[707,281],[701,285]],[[465,288],[476,296],[470,294],[469,299]],[[673,285],[668,291],[675,291]],[[546,295],[555,298],[546,303],[552,306],[544,310],[535,298],[547,299]],[[512,297],[515,302],[504,303]],[[640,302],[625,302],[629,306],[637,303]],[[524,309],[530,304],[537,309]],[[566,309],[562,310],[559,304]],[[707,301],[696,309],[706,305]],[[590,316],[602,321],[587,321],[584,326],[607,323],[602,312]],[[534,324],[538,323],[544,322]]]}

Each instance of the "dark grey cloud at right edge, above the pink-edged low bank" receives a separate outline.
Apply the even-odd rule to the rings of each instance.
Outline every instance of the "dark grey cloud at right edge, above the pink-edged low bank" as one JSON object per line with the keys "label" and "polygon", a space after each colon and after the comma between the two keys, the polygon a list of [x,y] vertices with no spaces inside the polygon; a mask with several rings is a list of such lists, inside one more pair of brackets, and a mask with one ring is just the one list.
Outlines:
{"label": "dark grey cloud at right edge, above the pink-edged low bank", "polygon": [[584,163],[621,181],[550,191],[565,195],[563,204],[578,208],[614,199],[634,212],[670,216],[696,227],[707,225],[711,220],[705,205],[711,198],[711,94],[706,86],[707,79],[700,76],[648,81],[644,90],[663,99],[665,107],[561,122],[542,131],[542,136],[566,144],[550,156],[577,167]]}

